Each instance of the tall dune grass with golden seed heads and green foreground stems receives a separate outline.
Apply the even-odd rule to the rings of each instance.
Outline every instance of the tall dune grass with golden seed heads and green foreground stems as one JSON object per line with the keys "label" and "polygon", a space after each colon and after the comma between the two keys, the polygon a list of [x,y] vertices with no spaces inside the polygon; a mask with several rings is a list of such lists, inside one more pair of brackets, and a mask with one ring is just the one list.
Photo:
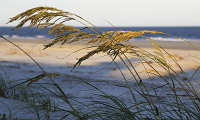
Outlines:
{"label": "tall dune grass with golden seed heads and green foreground stems", "polygon": [[[110,58],[112,59],[111,63],[114,63],[116,65],[117,69],[120,71],[121,75],[124,78],[124,82],[121,83],[121,85],[114,85],[118,87],[118,89],[128,89],[128,93],[133,99],[131,101],[123,101],[120,97],[113,96],[109,93],[105,93],[92,82],[80,77],[71,76],[66,73],[46,73],[42,69],[42,67],[25,51],[23,51],[20,47],[18,47],[8,39],[4,38],[3,36],[0,36],[6,41],[21,49],[43,71],[43,74],[38,75],[34,78],[27,79],[26,81],[21,82],[19,84],[13,85],[12,87],[9,87],[9,89],[13,89],[19,85],[30,87],[33,84],[37,84],[38,86],[43,88],[44,91],[48,91],[60,100],[64,101],[64,103],[67,104],[70,108],[63,109],[57,106],[56,103],[53,103],[49,97],[46,97],[44,99],[42,97],[44,95],[34,93],[32,94],[31,99],[32,101],[34,101],[33,99],[37,99],[37,101],[34,102],[38,102],[38,105],[40,107],[38,108],[38,106],[32,104],[31,108],[34,108],[33,112],[36,114],[36,116],[38,116],[38,119],[42,119],[39,112],[40,110],[45,111],[45,119],[50,119],[49,113],[52,110],[63,113],[60,116],[60,119],[200,119],[199,94],[197,93],[191,82],[193,76],[199,70],[199,67],[197,67],[192,76],[188,77],[175,56],[168,53],[164,48],[162,48],[162,46],[158,45],[154,40],[145,36],[145,34],[170,34],[159,31],[146,30],[116,30],[102,32],[98,27],[83,19],[82,17],[52,7],[36,7],[27,10],[11,18],[8,23],[14,22],[16,20],[21,20],[21,22],[13,29],[22,27],[27,22],[30,23],[29,27],[39,27],[39,29],[51,27],[51,29],[49,30],[49,34],[54,34],[55,37],[52,38],[54,39],[52,42],[45,45],[44,49],[48,49],[49,47],[53,46],[58,42],[61,42],[61,44],[63,45],[65,43],[78,42],[83,39],[88,40],[87,44],[98,43],[95,49],[93,49],[92,51],[88,51],[86,55],[78,59],[73,69],[76,69],[77,65],[81,65],[82,62],[94,56],[95,54],[103,52],[106,55],[110,56]],[[73,26],[65,25],[66,22],[72,20],[83,24],[85,27],[83,27],[82,29],[77,29]],[[91,33],[82,32],[83,29],[90,29]],[[101,32],[101,34],[99,32]],[[128,43],[129,40],[138,36],[142,36],[150,40],[153,46],[155,47],[155,52],[150,53],[137,46],[125,44]],[[181,39],[177,36],[173,37]],[[181,40],[187,42],[184,39]],[[191,45],[196,47],[193,44]],[[199,48],[197,49],[199,50]],[[176,64],[180,72],[177,72],[176,70],[174,70],[174,68],[170,67],[169,62],[166,60],[166,55],[170,57],[171,62]],[[135,65],[130,61],[130,56],[134,56],[137,57],[137,59],[139,59],[140,64],[143,65],[146,74],[149,76],[148,83],[145,82],[146,80],[143,80],[141,74],[138,72]],[[120,66],[116,62],[116,58],[119,58],[126,67],[126,69],[128,69],[128,71],[133,77],[134,84],[136,84],[135,86],[132,85],[133,81],[129,81],[126,75],[123,73]],[[155,65],[161,67],[167,73],[167,75],[162,75],[160,71],[157,70]],[[151,68],[153,72],[149,72],[147,67]],[[74,81],[78,81],[81,84],[85,84],[92,87],[93,89],[95,89],[95,91],[97,91],[97,93],[92,93],[92,96],[101,99],[80,102],[76,99],[70,98],[66,95],[66,91],[64,91],[54,81],[54,77],[56,76],[71,77]],[[154,77],[160,78],[160,80],[164,81],[165,84],[157,85],[156,83],[154,83]],[[40,80],[44,80],[45,84],[38,83],[38,81]],[[101,83],[103,82],[105,81],[101,81]],[[6,85],[3,82],[1,82],[0,92],[2,95],[2,91],[9,90],[4,90],[5,86]],[[179,89],[181,89],[182,92],[180,92]],[[158,95],[158,92],[160,90],[167,90],[166,93],[168,94],[165,94],[165,96],[162,98],[162,96]],[[139,100],[137,98],[138,95],[142,97],[142,100]],[[170,99],[166,99],[166,97]],[[30,101],[31,100],[29,100],[29,102]]]}

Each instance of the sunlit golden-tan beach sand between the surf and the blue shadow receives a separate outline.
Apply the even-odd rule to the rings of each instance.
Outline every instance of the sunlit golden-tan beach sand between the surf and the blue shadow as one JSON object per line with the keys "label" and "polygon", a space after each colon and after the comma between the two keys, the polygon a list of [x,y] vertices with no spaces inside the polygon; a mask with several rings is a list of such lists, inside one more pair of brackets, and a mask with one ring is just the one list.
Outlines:
{"label": "sunlit golden-tan beach sand between the surf and the blue shadow", "polygon": [[[76,64],[76,62],[78,61],[77,60],[78,58],[84,56],[87,52],[94,49],[94,48],[86,48],[86,47],[95,45],[95,44],[86,45],[87,41],[85,40],[85,41],[80,41],[80,42],[74,42],[71,44],[64,44],[62,46],[60,45],[60,43],[58,43],[50,48],[43,50],[44,45],[48,44],[50,40],[43,40],[43,39],[10,39],[10,40],[14,42],[16,45],[18,45],[19,47],[21,47],[23,50],[25,50],[31,57],[33,57],[33,59],[35,59],[41,65],[44,65],[44,64],[45,65],[60,65],[63,67],[71,66],[71,69],[73,65]],[[3,39],[0,39],[0,41],[1,41],[0,42],[0,47],[1,47],[0,60],[1,61],[34,63],[26,54],[24,54],[17,47],[13,46],[12,44],[6,42]],[[173,55],[178,61],[178,63],[181,65],[183,70],[189,71],[191,69],[196,69],[198,67],[197,63],[199,61],[200,54],[199,54],[199,50],[195,48],[194,46],[186,42],[156,41],[156,43],[159,44],[164,49],[166,49],[166,51],[169,54]],[[156,51],[154,49],[155,46],[152,45],[151,41],[130,41],[129,43],[125,43],[125,44],[131,44],[131,45],[140,47],[150,53],[154,53]],[[192,44],[200,48],[200,42],[192,42]],[[85,49],[80,50],[82,48],[85,48]],[[81,63],[81,66],[86,66],[86,67],[96,66],[96,69],[97,69],[96,71],[98,71],[98,69],[101,69],[101,67],[103,68],[104,66],[109,64],[109,62],[112,61],[112,59],[109,56],[105,56],[105,55],[106,55],[105,53],[96,54],[90,59],[83,61]],[[180,71],[180,69],[172,61],[169,55],[165,53],[164,56],[165,56],[165,59],[169,61],[169,65],[172,68],[174,67],[175,70]],[[137,57],[132,57],[131,60],[134,61],[133,64],[136,64],[139,62]],[[116,61],[120,61],[120,60],[116,59]],[[75,70],[79,68],[80,67],[77,66]],[[137,65],[136,68],[137,70],[140,70],[140,72],[145,71],[142,64]],[[163,75],[165,74],[162,68],[159,68],[159,67],[156,67],[156,68],[158,69],[159,72],[163,73]],[[111,65],[110,69],[116,69],[116,66]],[[147,67],[147,70],[154,71],[153,69],[150,69],[149,67]],[[125,68],[123,69],[123,71],[125,73],[128,72],[128,70]],[[118,72],[114,70],[109,72],[109,74],[111,76],[116,76],[117,78],[122,77]],[[107,75],[106,77],[108,77]],[[142,75],[142,76],[144,78],[148,77],[146,75]]]}

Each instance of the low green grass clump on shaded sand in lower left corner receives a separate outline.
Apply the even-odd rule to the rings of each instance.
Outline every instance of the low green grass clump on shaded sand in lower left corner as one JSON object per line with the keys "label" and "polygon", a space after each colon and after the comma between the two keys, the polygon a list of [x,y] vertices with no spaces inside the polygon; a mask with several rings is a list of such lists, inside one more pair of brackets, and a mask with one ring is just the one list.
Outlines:
{"label": "low green grass clump on shaded sand in lower left corner", "polygon": [[[31,79],[26,78],[26,79],[11,81],[11,79],[9,78],[9,76],[6,73],[6,70],[3,69],[3,66],[1,66],[1,68],[2,68],[1,70],[3,71],[4,75],[0,76],[0,97],[4,97],[4,98],[8,98],[8,99],[15,99],[15,100],[23,101],[23,102],[29,102],[30,106],[26,106],[26,107],[19,106],[19,109],[20,110],[27,109],[32,114],[35,114],[37,116],[37,119],[49,119],[50,112],[56,111],[57,107],[58,107],[55,100],[52,100],[50,98],[49,94],[46,94],[46,92],[44,90],[40,91],[38,89],[34,89],[34,87],[33,88],[27,87],[30,83],[32,83],[34,81],[36,82],[37,79],[38,80],[42,79],[45,76],[42,74],[42,75],[36,76]],[[7,78],[7,79],[5,79],[5,78]],[[44,86],[44,83],[42,83],[42,84]],[[48,82],[46,84],[48,84]],[[35,84],[32,86],[39,87],[39,84]],[[1,103],[3,103],[3,102],[1,102]],[[8,106],[7,106],[7,108],[10,111],[9,116],[11,117],[12,109],[10,109]],[[3,114],[1,119],[7,120],[6,114]]]}

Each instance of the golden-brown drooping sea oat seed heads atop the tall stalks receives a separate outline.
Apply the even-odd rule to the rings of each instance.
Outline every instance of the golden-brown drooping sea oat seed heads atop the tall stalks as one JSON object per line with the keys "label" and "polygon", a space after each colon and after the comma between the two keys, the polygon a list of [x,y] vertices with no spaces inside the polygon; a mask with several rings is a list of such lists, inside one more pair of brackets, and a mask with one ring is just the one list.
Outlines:
{"label": "golden-brown drooping sea oat seed heads atop the tall stalks", "polygon": [[[80,20],[75,19],[79,18]],[[27,10],[13,18],[9,22],[13,22],[16,20],[22,20],[16,27],[13,29],[22,27],[26,22],[30,21],[29,27],[37,26],[39,29],[41,28],[46,28],[46,27],[51,27],[49,30],[49,34],[53,34],[55,36],[54,40],[50,42],[49,44],[45,45],[44,49],[53,46],[54,44],[61,42],[61,45],[67,43],[72,43],[76,42],[85,38],[92,38],[91,40],[88,41],[87,44],[90,43],[100,43],[97,49],[90,51],[88,54],[85,56],[81,57],[76,65],[80,65],[82,61],[90,58],[94,54],[97,54],[99,52],[107,52],[108,55],[115,56],[116,54],[123,54],[126,52],[132,52],[134,54],[141,54],[144,56],[151,57],[154,60],[160,60],[161,63],[166,64],[165,57],[162,55],[162,50],[157,43],[155,43],[152,39],[145,37],[144,34],[167,34],[167,33],[162,33],[158,31],[148,31],[148,30],[143,30],[143,31],[122,31],[122,30],[117,30],[117,31],[107,31],[107,32],[102,32],[98,27],[94,26],[92,23],[88,22],[87,20],[83,19],[82,17],[65,12],[63,10],[59,10],[53,7],[36,7],[30,10]],[[91,31],[94,33],[85,33],[82,32],[83,29],[78,29],[73,26],[65,25],[67,21],[70,20],[76,20],[77,22],[83,24],[86,26],[86,28],[89,28]],[[8,22],[8,23],[9,23]],[[59,23],[57,23],[59,22]],[[95,27],[97,30],[99,30],[101,33],[98,33],[95,31],[92,27],[89,27],[87,24]],[[84,28],[85,29],[85,28]],[[170,34],[167,34],[170,35]],[[146,53],[142,50],[136,51],[135,49],[137,47],[131,46],[131,45],[123,45],[123,42],[127,42],[133,38],[136,37],[145,37],[146,39],[149,39],[153,42],[153,45],[156,48],[156,56]],[[172,35],[171,35],[172,36]],[[176,36],[173,36],[176,37]],[[75,65],[75,66],[76,66]],[[74,66],[74,67],[75,67]]]}

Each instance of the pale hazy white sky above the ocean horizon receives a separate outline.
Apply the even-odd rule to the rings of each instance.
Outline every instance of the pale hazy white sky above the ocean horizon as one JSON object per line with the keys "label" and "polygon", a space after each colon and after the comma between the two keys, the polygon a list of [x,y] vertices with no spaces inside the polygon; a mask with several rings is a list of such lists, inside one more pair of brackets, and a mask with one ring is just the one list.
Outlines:
{"label": "pale hazy white sky above the ocean horizon", "polygon": [[[200,0],[0,0],[0,26],[38,6],[75,13],[96,26],[200,26]],[[80,26],[78,23],[71,25]]]}

